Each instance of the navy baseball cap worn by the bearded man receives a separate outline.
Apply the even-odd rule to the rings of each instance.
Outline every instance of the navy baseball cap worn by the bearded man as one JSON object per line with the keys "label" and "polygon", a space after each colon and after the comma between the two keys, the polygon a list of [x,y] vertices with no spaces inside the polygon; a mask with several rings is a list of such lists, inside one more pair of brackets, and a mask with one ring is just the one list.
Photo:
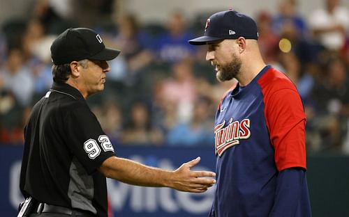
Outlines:
{"label": "navy baseball cap worn by the bearded man", "polygon": [[206,45],[207,42],[239,37],[258,40],[257,24],[251,17],[236,10],[225,10],[207,19],[204,36],[188,42],[191,45]]}

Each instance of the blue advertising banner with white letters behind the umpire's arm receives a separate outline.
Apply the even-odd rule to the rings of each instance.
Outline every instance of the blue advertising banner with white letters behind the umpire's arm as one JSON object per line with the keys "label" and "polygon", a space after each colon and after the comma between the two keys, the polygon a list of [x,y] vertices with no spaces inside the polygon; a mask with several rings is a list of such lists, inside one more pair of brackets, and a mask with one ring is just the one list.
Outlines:
{"label": "blue advertising banner with white letters behind the umpire's arm", "polygon": [[[17,216],[17,206],[24,199],[20,193],[22,146],[0,146],[1,208],[0,216]],[[201,156],[193,170],[215,168],[213,147],[115,147],[118,156],[148,166],[173,170],[186,161]],[[113,216],[207,216],[214,187],[205,193],[184,193],[170,188],[131,186],[107,179]]]}

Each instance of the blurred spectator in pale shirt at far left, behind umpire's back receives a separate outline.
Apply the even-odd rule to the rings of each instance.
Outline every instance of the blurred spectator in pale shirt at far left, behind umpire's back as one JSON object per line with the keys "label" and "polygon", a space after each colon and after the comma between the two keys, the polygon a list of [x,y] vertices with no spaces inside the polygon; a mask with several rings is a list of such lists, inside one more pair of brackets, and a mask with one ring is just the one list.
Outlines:
{"label": "blurred spectator in pale shirt at far left, behind umpire's back", "polygon": [[24,63],[20,49],[10,49],[6,64],[0,69],[4,90],[12,93],[22,106],[29,106],[34,95],[34,78],[31,69]]}

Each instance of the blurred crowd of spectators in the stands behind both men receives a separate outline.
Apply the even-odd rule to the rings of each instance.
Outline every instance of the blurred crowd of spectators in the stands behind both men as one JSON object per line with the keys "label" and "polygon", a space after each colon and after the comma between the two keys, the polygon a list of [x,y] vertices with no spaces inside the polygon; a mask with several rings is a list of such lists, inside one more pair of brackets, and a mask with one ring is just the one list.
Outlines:
{"label": "blurred crowd of spectators in the stands behind both men", "polygon": [[[275,14],[251,16],[265,62],[287,74],[302,97],[309,152],[349,153],[349,8],[322,1],[307,17],[298,13],[297,0],[280,0]],[[112,1],[76,2],[111,14]],[[187,42],[202,34],[211,13],[189,21],[173,10],[165,21],[142,24],[123,12],[82,23],[50,1],[36,1],[26,20],[10,19],[0,29],[0,144],[22,145],[31,107],[52,84],[50,45],[68,27],[80,26],[121,49],[110,61],[105,91],[87,100],[115,145],[213,147],[216,108],[236,81],[216,81],[206,47]]]}

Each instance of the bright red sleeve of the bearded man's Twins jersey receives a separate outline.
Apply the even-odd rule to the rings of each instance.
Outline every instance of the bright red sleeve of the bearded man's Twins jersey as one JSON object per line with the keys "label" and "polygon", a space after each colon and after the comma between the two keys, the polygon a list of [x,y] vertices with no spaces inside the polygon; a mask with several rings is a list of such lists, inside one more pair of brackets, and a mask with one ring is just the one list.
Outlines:
{"label": "bright red sleeve of the bearded man's Twins jersey", "polygon": [[278,170],[306,169],[306,118],[297,90],[282,88],[266,97],[265,118]]}

